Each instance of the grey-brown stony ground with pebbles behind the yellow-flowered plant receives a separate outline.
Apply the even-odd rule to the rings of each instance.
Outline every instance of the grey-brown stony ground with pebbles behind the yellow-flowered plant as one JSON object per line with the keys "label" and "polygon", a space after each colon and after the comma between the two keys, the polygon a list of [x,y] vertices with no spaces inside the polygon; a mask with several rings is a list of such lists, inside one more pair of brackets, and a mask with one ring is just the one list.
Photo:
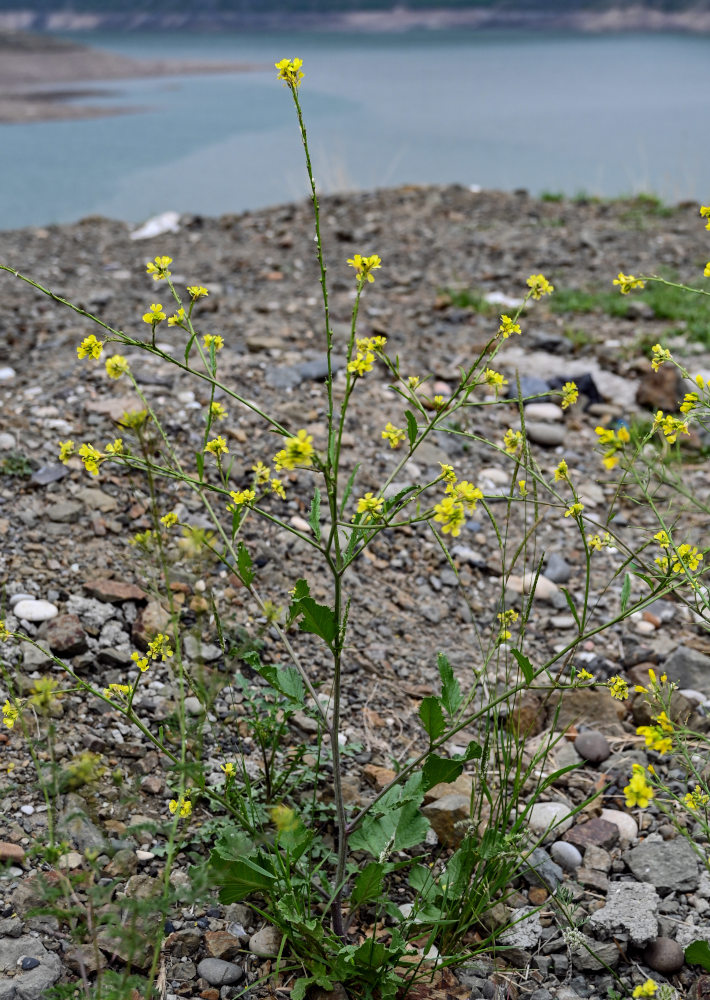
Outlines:
{"label": "grey-brown stony ground with pebbles behind the yellow-flowered plant", "polygon": [[[521,297],[528,274],[542,272],[558,289],[606,291],[619,270],[667,268],[695,280],[710,257],[697,205],[665,214],[637,203],[539,202],[524,192],[412,187],[330,197],[322,214],[337,353],[342,359],[353,301],[353,272],[345,260],[355,252],[378,253],[383,266],[366,290],[360,332],[386,335],[402,370],[431,372],[433,387],[442,395],[455,385],[459,366],[475,358],[495,334],[499,311],[513,308],[505,303]],[[312,247],[310,208],[298,204],[221,219],[183,217],[177,233],[142,241],[131,239],[129,226],[98,218],[4,233],[2,262],[99,313],[116,328],[144,336],[142,314],[152,301],[166,302],[165,287],[145,275],[145,262],[169,254],[178,286],[199,283],[210,290],[195,315],[201,332],[224,338],[220,372],[225,384],[284,427],[294,432],[306,427],[316,446],[322,446],[322,320]],[[461,287],[480,293],[478,309],[455,305],[443,294]],[[490,310],[486,296],[493,302]],[[565,414],[549,403],[528,408],[528,435],[546,475],[566,458],[590,528],[597,530],[614,489],[613,475],[604,472],[594,450],[594,428],[613,419],[631,422],[659,406],[675,408],[682,388],[667,377],[651,378],[647,355],[648,346],[678,323],[657,318],[630,297],[621,318],[601,311],[561,315],[541,300],[528,309],[521,325],[522,338],[506,342],[496,361],[512,385],[517,373],[526,395],[544,393],[555,378],[586,386],[584,398]],[[3,647],[0,701],[10,681],[20,694],[28,694],[37,679],[61,677],[50,654],[62,656],[77,675],[99,687],[121,682],[133,666],[131,652],[165,621],[164,610],[150,595],[150,566],[130,545],[151,524],[145,485],[120,469],[106,468],[93,479],[74,460],[60,465],[57,443],[72,438],[103,447],[116,437],[115,421],[139,402],[124,382],[107,379],[103,365],[77,361],[77,344],[98,332],[87,320],[7,273],[0,273],[0,332],[2,616],[9,628],[25,631],[43,647]],[[158,334],[168,349],[178,345],[179,357],[182,333],[160,327]],[[705,347],[682,333],[673,345],[692,371],[707,377],[710,355]],[[189,460],[201,440],[201,414],[208,400],[204,386],[163,362],[133,360],[141,390]],[[336,396],[343,384],[341,374]],[[360,381],[353,397],[344,461],[348,468],[362,463],[357,496],[377,491],[398,458],[381,439],[388,420],[403,423],[400,401],[388,385],[384,368],[377,367]],[[234,459],[234,488],[241,489],[248,485],[255,461],[271,460],[278,439],[253,411],[239,411],[227,396],[221,398],[229,416],[220,432]],[[440,462],[451,463],[461,478],[481,487],[494,515],[502,519],[505,504],[500,498],[508,495],[512,466],[481,439],[500,442],[516,412],[514,404],[477,408],[470,424],[458,428],[474,438],[435,435],[399,480],[426,481],[436,476]],[[683,469],[684,482],[700,495],[707,492],[707,473],[698,462],[703,444],[702,438],[692,439]],[[310,481],[293,473],[286,485],[289,498],[279,512],[285,507],[287,519],[307,530]],[[189,493],[164,489],[166,510],[177,510],[197,527],[208,526]],[[481,508],[452,548],[460,585],[423,529],[387,532],[355,568],[343,726],[347,743],[358,747],[347,762],[351,801],[367,801],[372,787],[386,780],[383,768],[406,760],[421,745],[415,714],[421,697],[436,690],[437,651],[448,655],[466,691],[480,689],[484,680],[489,685],[501,680],[495,673],[483,676],[479,640],[485,646],[496,629],[503,591],[509,605],[520,606],[522,571],[541,559],[543,576],[526,632],[526,653],[533,662],[544,662],[573,639],[574,620],[559,588],[566,585],[578,595],[583,559],[575,525],[561,513],[555,508],[543,515],[527,563],[519,560],[507,579],[501,577],[495,534]],[[653,526],[643,511],[623,501],[615,523],[629,544],[647,539]],[[509,551],[521,530],[513,515]],[[256,523],[247,528],[245,539],[265,597],[286,604],[298,576],[309,577],[314,596],[327,597],[327,580],[314,567],[306,543]],[[694,541],[702,546],[701,537]],[[234,657],[225,658],[217,643],[210,600],[229,636],[243,637],[242,630],[259,635],[264,655],[276,662],[284,661],[285,653],[235,576],[200,562],[184,546],[176,546],[174,559],[174,599],[181,608],[188,666],[220,681],[206,735],[208,777],[219,781],[235,730],[247,750],[250,738],[241,696],[230,684],[242,666]],[[613,552],[599,556],[595,623],[618,609],[620,579],[606,589],[600,583],[609,580],[617,563]],[[305,648],[314,676],[327,683],[327,665],[317,647]],[[665,669],[684,691],[682,705],[702,728],[710,704],[708,653],[702,625],[669,600],[587,640],[576,662],[599,679],[620,673],[637,683],[648,677],[650,665]],[[169,720],[178,694],[170,664],[155,665],[141,690],[136,705],[146,724],[157,727]],[[194,691],[187,708],[196,718],[203,712]],[[484,957],[439,984],[442,990],[456,997],[500,1000],[606,996],[614,986],[610,973],[579,941],[566,942],[555,919],[549,894],[563,884],[576,917],[588,918],[582,929],[587,942],[626,987],[652,976],[673,985],[681,996],[706,997],[710,981],[698,966],[684,964],[683,948],[693,940],[710,941],[710,878],[655,804],[643,811],[624,805],[621,789],[634,762],[655,762],[679,794],[687,790],[672,760],[647,752],[637,737],[636,726],[647,721],[643,705],[638,698],[615,703],[602,688],[568,696],[556,719],[535,695],[525,700],[523,710],[530,734],[525,753],[553,725],[561,729],[572,724],[548,770],[580,764],[548,789],[530,827],[542,835],[551,817],[566,816],[595,790],[601,794],[548,835],[536,855],[539,877],[528,873],[516,883],[507,905],[518,911],[516,918],[530,916],[504,938],[512,949],[507,961],[494,964]],[[93,850],[106,884],[116,883],[119,898],[140,895],[163,870],[171,776],[141,734],[105,704],[66,694],[55,704],[54,715],[59,761],[67,764],[89,750],[101,755],[107,769],[93,782],[73,790],[66,786],[54,803],[60,837],[66,841],[58,870],[80,869],[85,852]],[[38,726],[42,755],[47,752],[42,735],[46,722],[40,719]],[[296,719],[294,744],[304,738],[303,727],[308,729],[309,720]],[[0,880],[0,968],[6,975],[0,998],[22,1000],[44,996],[55,982],[78,980],[82,962],[90,970],[92,961],[94,967],[98,962],[116,969],[122,961],[120,949],[110,941],[103,942],[100,958],[86,943],[78,958],[56,915],[32,915],[36,874],[48,867],[33,850],[48,839],[47,804],[21,728],[4,730],[0,746],[0,858],[7,862]],[[117,771],[121,786],[110,780]],[[470,782],[464,776],[453,799],[428,807],[435,830],[428,841],[432,858],[455,836],[454,821],[465,817]],[[198,802],[193,828],[198,830],[208,817]],[[142,822],[148,824],[142,832],[129,831]],[[205,848],[198,844],[195,849]],[[177,883],[187,880],[188,862],[186,849],[178,858]],[[257,933],[261,936],[254,941]],[[263,921],[242,905],[176,907],[163,949],[165,995],[205,1000],[237,996],[266,968],[273,941],[265,945],[265,936],[269,931]],[[253,995],[258,995],[256,989]],[[432,987],[430,995],[439,994]]]}

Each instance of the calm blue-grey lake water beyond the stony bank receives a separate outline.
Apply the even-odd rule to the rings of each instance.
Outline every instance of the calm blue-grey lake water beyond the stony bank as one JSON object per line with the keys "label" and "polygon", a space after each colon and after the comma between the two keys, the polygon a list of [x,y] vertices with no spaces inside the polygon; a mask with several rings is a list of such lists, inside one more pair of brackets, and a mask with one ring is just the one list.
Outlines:
{"label": "calm blue-grey lake water beyond the stony bank", "polygon": [[[518,33],[81,34],[146,58],[244,74],[110,81],[137,114],[0,126],[0,229],[102,214],[215,215],[306,194],[273,63],[304,60],[323,191],[402,183],[710,200],[710,38]],[[91,87],[100,84],[92,83]]]}

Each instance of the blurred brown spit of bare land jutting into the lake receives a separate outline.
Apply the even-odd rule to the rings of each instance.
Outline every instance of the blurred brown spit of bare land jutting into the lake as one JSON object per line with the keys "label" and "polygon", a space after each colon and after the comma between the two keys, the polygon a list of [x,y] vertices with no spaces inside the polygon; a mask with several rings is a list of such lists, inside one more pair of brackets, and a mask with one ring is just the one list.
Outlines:
{"label": "blurred brown spit of bare land jutting into the lake", "polygon": [[144,110],[129,105],[106,108],[68,103],[101,96],[106,91],[67,84],[188,73],[242,73],[256,68],[242,63],[131,59],[51,35],[0,32],[0,123],[96,118]]}

